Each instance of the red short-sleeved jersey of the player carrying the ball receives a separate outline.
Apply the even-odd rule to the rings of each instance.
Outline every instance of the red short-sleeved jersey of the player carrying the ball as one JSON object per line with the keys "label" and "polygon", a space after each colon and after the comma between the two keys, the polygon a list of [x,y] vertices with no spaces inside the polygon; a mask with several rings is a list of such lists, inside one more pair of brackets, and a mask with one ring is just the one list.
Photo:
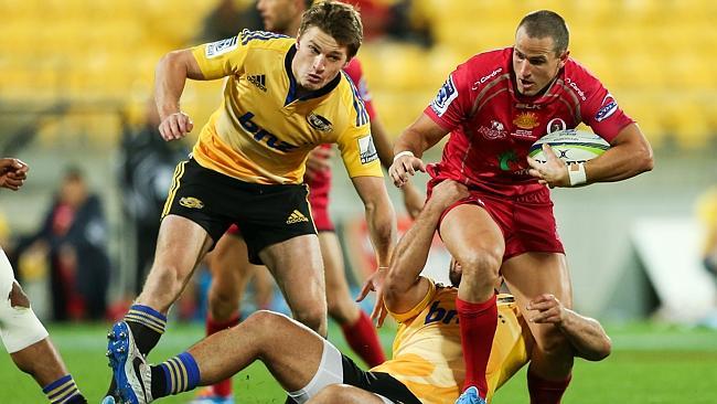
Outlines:
{"label": "red short-sleeved jersey of the player carrying the ball", "polygon": [[533,192],[543,185],[527,173],[526,157],[537,139],[585,123],[610,142],[633,121],[571,59],[542,95],[520,95],[512,57],[506,47],[469,59],[426,107],[424,114],[450,131],[441,161],[429,166],[431,177],[505,196]]}

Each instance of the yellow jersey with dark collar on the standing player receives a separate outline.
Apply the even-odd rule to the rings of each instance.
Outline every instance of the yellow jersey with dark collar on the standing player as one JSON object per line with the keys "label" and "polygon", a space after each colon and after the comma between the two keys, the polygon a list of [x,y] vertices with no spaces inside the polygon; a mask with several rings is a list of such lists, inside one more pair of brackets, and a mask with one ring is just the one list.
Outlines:
{"label": "yellow jersey with dark collar on the standing player", "polygon": [[368,115],[344,73],[297,97],[295,43],[244,30],[191,50],[205,78],[228,76],[222,105],[202,128],[194,158],[242,181],[301,183],[309,151],[335,142],[350,177],[383,177]]}

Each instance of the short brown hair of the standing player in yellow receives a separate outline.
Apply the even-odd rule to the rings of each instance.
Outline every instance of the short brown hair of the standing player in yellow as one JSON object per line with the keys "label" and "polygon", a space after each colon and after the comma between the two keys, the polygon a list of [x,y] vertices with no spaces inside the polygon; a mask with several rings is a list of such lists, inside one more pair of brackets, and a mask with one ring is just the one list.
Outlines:
{"label": "short brown hair of the standing player in yellow", "polygon": [[363,42],[361,15],[353,6],[336,1],[314,3],[301,17],[299,36],[311,26],[317,26],[331,35],[341,46],[346,46],[349,59],[356,55]]}

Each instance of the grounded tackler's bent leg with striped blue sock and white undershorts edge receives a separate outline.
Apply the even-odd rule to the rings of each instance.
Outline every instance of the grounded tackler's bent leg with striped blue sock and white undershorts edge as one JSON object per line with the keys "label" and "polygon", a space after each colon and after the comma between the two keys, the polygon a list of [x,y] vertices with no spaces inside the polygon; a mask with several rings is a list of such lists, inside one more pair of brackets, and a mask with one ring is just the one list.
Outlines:
{"label": "grounded tackler's bent leg with striped blue sock and white undershorts edge", "polygon": [[298,321],[266,310],[163,363],[120,372],[130,381],[128,389],[142,396],[137,402],[143,403],[215,383],[256,360],[299,402],[325,384],[342,382],[342,357],[331,343]]}

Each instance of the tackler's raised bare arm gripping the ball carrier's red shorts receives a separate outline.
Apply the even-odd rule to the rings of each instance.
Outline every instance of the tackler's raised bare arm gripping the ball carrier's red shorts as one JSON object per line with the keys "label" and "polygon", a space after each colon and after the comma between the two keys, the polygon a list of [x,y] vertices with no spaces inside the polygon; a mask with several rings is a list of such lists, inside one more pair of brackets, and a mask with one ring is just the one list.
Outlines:
{"label": "tackler's raised bare arm gripping the ball carrier's red shorts", "polygon": [[414,224],[396,245],[384,283],[384,302],[389,311],[407,312],[428,293],[428,279],[419,275],[426,265],[434,233],[443,211],[465,196],[468,189],[464,185],[451,180],[439,183]]}

